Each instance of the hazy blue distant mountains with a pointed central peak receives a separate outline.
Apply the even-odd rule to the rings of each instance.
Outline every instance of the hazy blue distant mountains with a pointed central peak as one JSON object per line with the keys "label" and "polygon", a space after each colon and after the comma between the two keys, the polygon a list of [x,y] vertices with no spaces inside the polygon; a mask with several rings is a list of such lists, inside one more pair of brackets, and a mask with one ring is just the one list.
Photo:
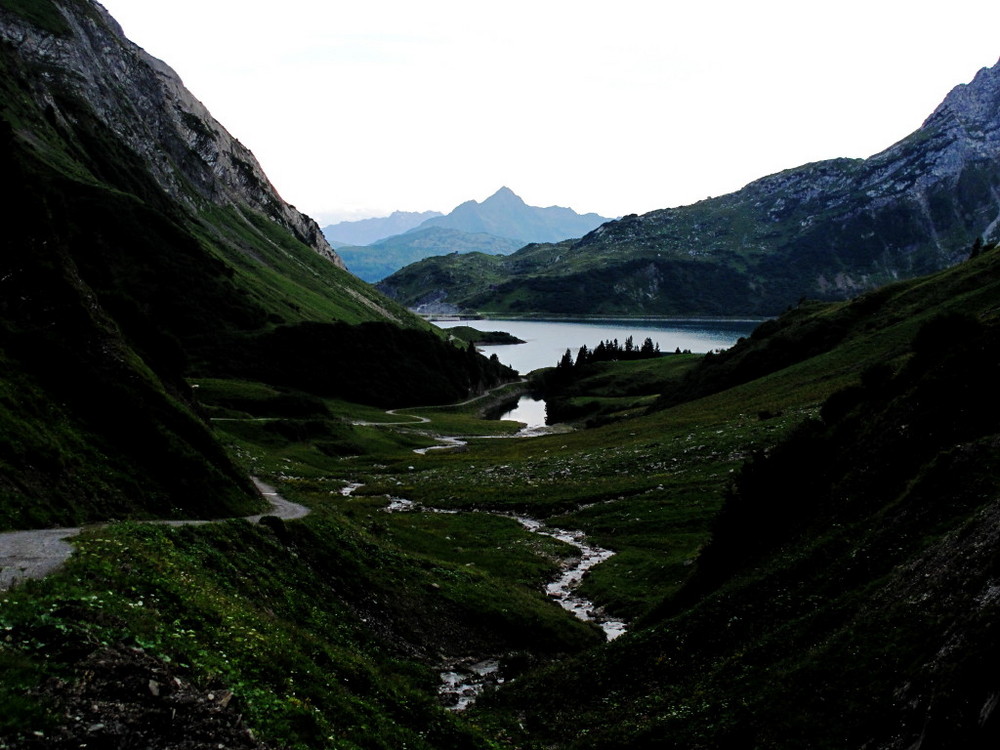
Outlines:
{"label": "hazy blue distant mountains with a pointed central peak", "polygon": [[[417,216],[421,214],[397,211],[385,219],[368,219],[373,223],[364,227],[359,226],[363,222],[342,222],[323,232],[337,247],[348,270],[375,282],[424,258],[471,252],[506,255],[532,242],[580,237],[610,221],[594,213],[581,215],[571,208],[529,206],[510,188],[503,187],[482,203],[466,201],[448,215],[435,214],[395,236],[369,240],[364,247],[338,242],[355,230],[355,236],[373,236],[390,226],[403,226]],[[393,217],[398,218],[392,221]],[[345,225],[350,226],[338,229]]]}

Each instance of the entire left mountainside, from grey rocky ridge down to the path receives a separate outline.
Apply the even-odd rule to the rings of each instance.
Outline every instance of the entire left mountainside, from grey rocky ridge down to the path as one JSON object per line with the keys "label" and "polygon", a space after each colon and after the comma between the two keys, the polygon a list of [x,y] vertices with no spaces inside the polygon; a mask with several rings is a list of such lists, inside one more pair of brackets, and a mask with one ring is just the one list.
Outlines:
{"label": "entire left mountainside, from grey rocky ridge down to the path", "polygon": [[[0,94],[14,188],[0,239],[0,526],[260,507],[185,380],[260,369],[234,353],[254,351],[275,382],[336,356],[354,381],[383,384],[341,395],[376,402],[405,399],[400,382],[434,402],[509,376],[346,272],[252,154],[100,6],[0,4]],[[378,356],[307,347],[292,363],[265,346],[272,330],[333,323],[386,326],[349,337]],[[390,330],[395,343],[378,347]],[[421,347],[434,353],[406,378],[368,377],[394,349]]]}

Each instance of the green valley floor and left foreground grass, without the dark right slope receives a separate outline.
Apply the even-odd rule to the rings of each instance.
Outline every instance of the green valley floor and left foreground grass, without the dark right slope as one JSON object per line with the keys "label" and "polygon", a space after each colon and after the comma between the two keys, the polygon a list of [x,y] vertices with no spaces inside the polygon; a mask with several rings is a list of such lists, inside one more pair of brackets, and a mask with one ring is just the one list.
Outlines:
{"label": "green valley floor and left foreground grass, without the dark right slope", "polygon": [[[662,366],[669,376],[685,362]],[[634,385],[653,366],[625,367],[622,377]],[[295,417],[263,416],[275,397],[267,387],[199,386],[230,453],[280,492],[270,495],[274,515],[309,515],[267,528],[87,530],[56,575],[15,586],[0,607],[12,646],[3,658],[21,675],[0,703],[27,690],[71,705],[64,690],[40,691],[39,675],[59,664],[65,689],[85,693],[80,675],[95,660],[120,661],[100,649],[141,648],[136,658],[154,660],[143,674],[196,686],[202,706],[232,693],[255,733],[288,747],[495,747],[491,735],[506,730],[480,727],[480,709],[442,717],[442,673],[489,657],[502,693],[602,648],[605,632],[547,590],[577,565],[583,534],[609,554],[575,577],[574,594],[593,603],[578,608],[618,622],[648,616],[690,576],[730,472],[813,408],[801,394],[744,392],[629,416],[648,405],[643,393],[609,400],[623,416],[604,427],[515,437],[518,423],[481,410],[516,401],[524,384],[453,406],[387,414],[328,401],[323,413]],[[228,395],[236,391],[239,408]],[[400,498],[416,510],[386,513]],[[518,517],[573,538],[539,536]],[[50,640],[53,627],[68,636]],[[6,731],[45,726],[43,716],[22,712]],[[105,728],[94,739],[116,736]]]}

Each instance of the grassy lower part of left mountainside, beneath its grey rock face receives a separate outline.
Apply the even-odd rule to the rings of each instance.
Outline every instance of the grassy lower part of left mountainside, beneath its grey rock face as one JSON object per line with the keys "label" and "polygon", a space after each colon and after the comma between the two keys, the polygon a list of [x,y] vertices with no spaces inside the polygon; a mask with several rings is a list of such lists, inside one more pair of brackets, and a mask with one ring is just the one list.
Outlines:
{"label": "grassy lower part of left mountainside, beneath its grey rock face", "polygon": [[152,202],[67,175],[9,127],[3,163],[20,186],[0,274],[17,290],[2,303],[5,524],[253,507],[183,377],[229,367],[223,352],[282,321],[424,327],[263,220],[208,224],[150,185]]}

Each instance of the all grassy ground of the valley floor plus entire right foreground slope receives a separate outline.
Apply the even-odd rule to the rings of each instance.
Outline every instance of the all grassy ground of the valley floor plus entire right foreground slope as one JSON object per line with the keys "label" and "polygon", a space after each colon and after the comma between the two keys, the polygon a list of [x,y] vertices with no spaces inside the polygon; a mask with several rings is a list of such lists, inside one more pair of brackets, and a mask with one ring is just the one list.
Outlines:
{"label": "all grassy ground of the valley floor plus entire right foreground slope", "polygon": [[[46,706],[104,706],[120,670],[176,676],[199,705],[231,691],[255,737],[292,747],[894,747],[923,728],[982,746],[998,280],[992,250],[874,300],[803,305],[723,355],[603,364],[574,398],[631,399],[615,421],[424,455],[440,434],[515,426],[475,404],[389,415],[199,381],[231,455],[313,515],[95,531],[0,610],[2,699],[20,706],[5,736],[79,737]],[[798,354],[745,377],[769,351]],[[463,512],[390,514],[391,497]],[[629,632],[597,645],[546,602],[569,551],[464,512],[486,509],[614,549],[584,591]],[[435,675],[458,656],[518,679],[446,714]],[[128,706],[154,721],[166,700]]]}

